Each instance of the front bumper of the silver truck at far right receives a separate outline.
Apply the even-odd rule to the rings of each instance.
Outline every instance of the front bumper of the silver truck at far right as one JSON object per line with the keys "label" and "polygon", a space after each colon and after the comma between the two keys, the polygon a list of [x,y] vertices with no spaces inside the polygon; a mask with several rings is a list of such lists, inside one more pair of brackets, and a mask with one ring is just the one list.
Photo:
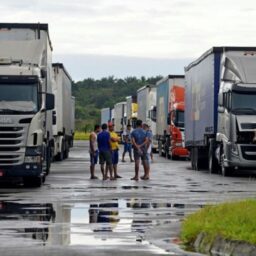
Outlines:
{"label": "front bumper of the silver truck at far right", "polygon": [[238,144],[236,152],[232,150],[231,145],[227,145],[224,165],[226,167],[256,170],[256,145]]}

